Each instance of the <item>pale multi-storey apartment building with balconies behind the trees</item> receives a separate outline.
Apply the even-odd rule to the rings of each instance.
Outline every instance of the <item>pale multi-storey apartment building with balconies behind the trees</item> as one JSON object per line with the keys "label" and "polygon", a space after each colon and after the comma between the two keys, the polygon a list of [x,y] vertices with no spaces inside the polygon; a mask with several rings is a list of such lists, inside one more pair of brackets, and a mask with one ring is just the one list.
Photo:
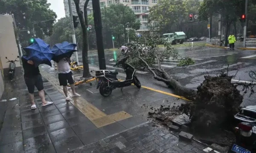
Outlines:
{"label": "pale multi-storey apartment building with balconies behind the trees", "polygon": [[[84,11],[85,1],[86,0],[80,0],[79,6],[82,11]],[[99,0],[99,1],[100,1],[101,7],[105,7],[105,6],[108,7],[111,4],[115,4],[115,3],[122,3],[126,7],[130,7],[134,11],[134,13],[137,15],[137,20],[140,21],[140,29],[137,30],[137,32],[148,31],[149,12],[147,11],[149,10],[150,7],[157,4],[157,0]],[[64,7],[65,7],[65,14],[66,16],[68,16],[69,8],[68,8],[67,0],[64,0]],[[77,14],[76,7],[73,0],[71,0],[71,8],[72,8],[73,14]],[[87,12],[91,13],[92,9],[93,9],[92,0],[90,0],[87,6]],[[145,13],[145,15],[141,15],[143,13]]]}

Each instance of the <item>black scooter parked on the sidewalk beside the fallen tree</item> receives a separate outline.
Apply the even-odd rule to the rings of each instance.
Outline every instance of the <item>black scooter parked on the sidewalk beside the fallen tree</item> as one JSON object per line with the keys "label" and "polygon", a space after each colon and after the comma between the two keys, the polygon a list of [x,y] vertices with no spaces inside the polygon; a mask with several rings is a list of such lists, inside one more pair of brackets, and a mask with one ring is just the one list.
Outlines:
{"label": "black scooter parked on the sidewalk beside the fallen tree", "polygon": [[141,87],[140,81],[135,75],[135,68],[130,64],[126,63],[127,59],[130,56],[122,57],[119,59],[113,67],[121,66],[125,71],[126,78],[124,81],[120,81],[116,78],[118,71],[116,70],[92,70],[96,74],[96,79],[98,81],[97,89],[99,89],[99,93],[102,96],[108,97],[111,95],[112,91],[116,88],[122,88],[130,86],[132,83],[137,86],[137,88]]}

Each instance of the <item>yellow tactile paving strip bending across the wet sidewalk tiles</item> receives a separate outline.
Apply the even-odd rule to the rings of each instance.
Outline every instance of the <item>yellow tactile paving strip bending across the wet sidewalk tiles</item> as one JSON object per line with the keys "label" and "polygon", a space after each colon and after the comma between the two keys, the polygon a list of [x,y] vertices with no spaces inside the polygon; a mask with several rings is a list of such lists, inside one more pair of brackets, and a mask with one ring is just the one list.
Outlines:
{"label": "yellow tactile paving strip bending across the wet sidewalk tiles", "polygon": [[[40,71],[42,76],[49,82],[51,82],[52,85],[58,91],[60,91],[61,94],[64,95],[63,88],[59,86],[58,79],[52,77],[49,73],[41,68]],[[70,92],[68,92],[68,94],[71,96]],[[70,100],[70,102],[74,106],[76,106],[76,108],[78,108],[98,128],[131,117],[131,115],[126,113],[125,111],[120,111],[111,115],[107,115],[104,112],[100,111],[98,108],[96,108],[94,105],[92,105],[90,102],[87,102],[87,100],[81,96],[74,97],[72,100]]]}

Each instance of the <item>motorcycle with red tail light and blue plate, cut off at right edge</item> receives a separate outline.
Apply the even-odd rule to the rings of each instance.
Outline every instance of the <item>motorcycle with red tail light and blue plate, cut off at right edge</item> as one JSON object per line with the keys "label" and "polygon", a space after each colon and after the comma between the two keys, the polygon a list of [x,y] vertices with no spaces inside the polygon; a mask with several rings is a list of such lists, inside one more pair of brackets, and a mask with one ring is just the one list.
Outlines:
{"label": "motorcycle with red tail light and blue plate, cut off at right edge", "polygon": [[[249,72],[252,79],[256,79],[253,71]],[[228,153],[255,153],[256,152],[256,105],[241,108],[235,119],[239,120],[235,127],[236,142]]]}

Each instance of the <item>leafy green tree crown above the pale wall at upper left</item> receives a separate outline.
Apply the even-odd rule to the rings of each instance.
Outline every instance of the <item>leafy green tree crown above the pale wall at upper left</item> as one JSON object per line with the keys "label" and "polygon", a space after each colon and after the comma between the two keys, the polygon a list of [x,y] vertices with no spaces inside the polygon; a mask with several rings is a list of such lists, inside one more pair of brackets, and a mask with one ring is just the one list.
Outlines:
{"label": "leafy green tree crown above the pale wall at upper left", "polygon": [[[27,40],[32,37],[33,26],[36,37],[44,38],[44,35],[52,34],[53,23],[57,15],[49,9],[49,6],[50,3],[47,3],[47,0],[1,0],[0,14],[14,14],[20,42],[27,45]],[[22,30],[29,30],[31,33],[29,35],[26,32],[20,32]]]}

